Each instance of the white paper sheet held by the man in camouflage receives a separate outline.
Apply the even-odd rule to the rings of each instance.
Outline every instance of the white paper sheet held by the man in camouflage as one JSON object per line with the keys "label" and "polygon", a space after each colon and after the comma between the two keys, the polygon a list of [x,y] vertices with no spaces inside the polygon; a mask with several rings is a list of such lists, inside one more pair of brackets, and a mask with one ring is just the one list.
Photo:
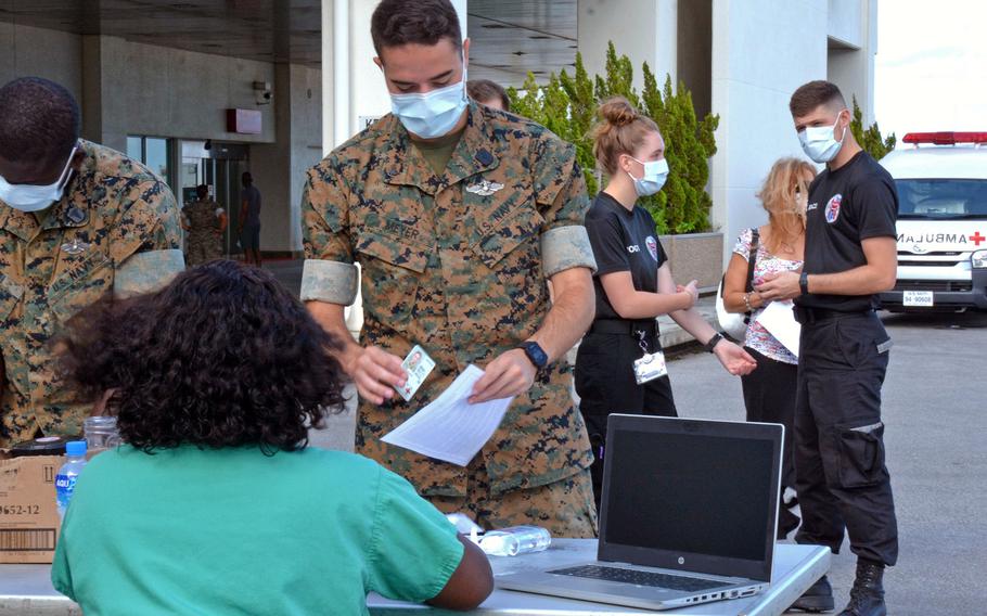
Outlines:
{"label": "white paper sheet held by the man in camouflage", "polygon": [[449,388],[381,439],[384,442],[465,466],[490,439],[511,400],[466,401],[484,371],[470,364]]}

